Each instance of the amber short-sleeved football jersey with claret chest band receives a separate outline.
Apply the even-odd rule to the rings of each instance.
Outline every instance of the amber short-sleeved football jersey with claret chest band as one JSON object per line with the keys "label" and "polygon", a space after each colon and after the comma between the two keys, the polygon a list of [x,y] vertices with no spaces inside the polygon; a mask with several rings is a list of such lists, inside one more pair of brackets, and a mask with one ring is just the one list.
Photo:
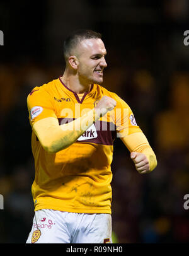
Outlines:
{"label": "amber short-sleeved football jersey with claret chest band", "polygon": [[35,87],[27,104],[31,128],[39,120],[54,117],[59,125],[72,122],[95,108],[103,96],[116,100],[116,107],[98,119],[77,141],[57,153],[43,149],[35,132],[31,148],[35,180],[31,187],[35,211],[111,213],[113,141],[142,132],[129,105],[98,84],[77,95],[60,78]]}

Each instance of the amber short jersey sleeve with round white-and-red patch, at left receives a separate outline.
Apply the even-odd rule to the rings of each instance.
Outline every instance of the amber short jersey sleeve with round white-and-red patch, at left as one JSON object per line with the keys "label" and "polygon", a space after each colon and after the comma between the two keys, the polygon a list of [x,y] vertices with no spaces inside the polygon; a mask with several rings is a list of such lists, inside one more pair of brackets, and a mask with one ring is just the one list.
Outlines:
{"label": "amber short jersey sleeve with round white-and-red patch, at left", "polygon": [[50,94],[44,90],[43,86],[35,87],[27,97],[27,107],[31,127],[38,120],[47,117],[56,117],[54,105]]}

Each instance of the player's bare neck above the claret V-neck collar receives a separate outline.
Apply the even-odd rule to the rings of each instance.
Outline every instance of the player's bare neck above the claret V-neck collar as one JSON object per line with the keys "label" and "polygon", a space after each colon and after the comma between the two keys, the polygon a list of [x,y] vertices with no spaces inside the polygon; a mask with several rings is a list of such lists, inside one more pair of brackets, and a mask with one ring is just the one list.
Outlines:
{"label": "player's bare neck above the claret V-neck collar", "polygon": [[67,88],[76,93],[85,93],[86,91],[91,90],[92,84],[84,83],[84,81],[81,81],[82,79],[79,79],[77,74],[72,74],[71,72],[67,71],[67,69],[64,71],[64,74],[60,77],[60,79],[67,86]]}

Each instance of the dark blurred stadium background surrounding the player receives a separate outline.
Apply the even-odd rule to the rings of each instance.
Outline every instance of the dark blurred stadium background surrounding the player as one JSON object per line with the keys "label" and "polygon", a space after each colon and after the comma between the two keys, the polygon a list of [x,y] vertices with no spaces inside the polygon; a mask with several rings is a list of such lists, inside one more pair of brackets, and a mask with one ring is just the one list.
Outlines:
{"label": "dark blurred stadium background surrounding the player", "polygon": [[154,172],[139,175],[127,148],[115,141],[114,241],[189,241],[189,210],[183,207],[189,194],[188,21],[187,0],[0,2],[0,243],[25,243],[33,218],[26,96],[63,73],[62,42],[77,28],[103,34],[103,86],[130,105],[157,155]]}

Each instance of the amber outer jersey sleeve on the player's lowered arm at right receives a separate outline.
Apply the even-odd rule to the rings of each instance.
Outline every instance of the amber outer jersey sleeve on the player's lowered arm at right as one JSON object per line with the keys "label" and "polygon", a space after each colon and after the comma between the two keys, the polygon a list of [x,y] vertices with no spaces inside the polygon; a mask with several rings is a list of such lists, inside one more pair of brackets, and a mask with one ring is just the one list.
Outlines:
{"label": "amber outer jersey sleeve on the player's lowered arm at right", "polygon": [[117,106],[115,107],[117,137],[125,137],[135,132],[142,132],[129,105],[116,94],[114,94],[113,98],[117,101]]}

